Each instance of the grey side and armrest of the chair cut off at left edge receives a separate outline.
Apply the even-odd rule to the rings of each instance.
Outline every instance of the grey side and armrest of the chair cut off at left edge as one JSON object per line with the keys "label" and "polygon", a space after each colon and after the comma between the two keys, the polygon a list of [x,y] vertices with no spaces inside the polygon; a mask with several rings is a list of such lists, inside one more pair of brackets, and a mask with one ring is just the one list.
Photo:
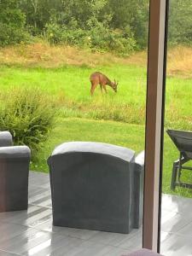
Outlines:
{"label": "grey side and armrest of the chair cut off at left edge", "polygon": [[30,156],[26,146],[0,148],[0,212],[27,209]]}

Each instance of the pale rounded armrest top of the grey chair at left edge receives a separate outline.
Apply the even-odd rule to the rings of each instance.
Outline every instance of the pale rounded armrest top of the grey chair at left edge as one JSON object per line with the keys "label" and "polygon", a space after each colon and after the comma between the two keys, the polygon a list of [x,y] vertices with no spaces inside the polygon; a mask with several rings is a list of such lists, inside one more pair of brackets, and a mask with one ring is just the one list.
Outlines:
{"label": "pale rounded armrest top of the grey chair at left edge", "polygon": [[31,150],[26,146],[11,146],[11,147],[0,148],[0,159],[10,159],[10,158],[30,159],[30,157],[31,157]]}

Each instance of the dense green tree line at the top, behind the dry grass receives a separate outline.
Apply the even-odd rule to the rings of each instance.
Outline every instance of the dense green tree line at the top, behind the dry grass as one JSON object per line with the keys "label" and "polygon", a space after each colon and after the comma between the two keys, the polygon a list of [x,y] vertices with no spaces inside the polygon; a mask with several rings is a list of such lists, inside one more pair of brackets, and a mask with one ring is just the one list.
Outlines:
{"label": "dense green tree line at the top, behind the dry grass", "polygon": [[[70,44],[127,55],[148,42],[148,0],[0,0],[0,46]],[[192,1],[171,0],[169,40],[190,44]]]}

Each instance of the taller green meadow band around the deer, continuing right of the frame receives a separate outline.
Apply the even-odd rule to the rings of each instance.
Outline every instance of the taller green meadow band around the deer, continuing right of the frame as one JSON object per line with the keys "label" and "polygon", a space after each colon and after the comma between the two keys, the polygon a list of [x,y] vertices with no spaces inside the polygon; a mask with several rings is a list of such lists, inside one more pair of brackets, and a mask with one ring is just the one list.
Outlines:
{"label": "taller green meadow band around the deer, continuing right of the frame", "polygon": [[[108,95],[96,88],[90,97],[90,73],[101,70],[119,80],[118,93],[108,87]],[[192,79],[167,78],[166,127],[192,130]],[[13,86],[38,87],[54,96],[63,117],[145,123],[146,70],[131,65],[111,67],[23,68],[0,67],[2,90]]]}

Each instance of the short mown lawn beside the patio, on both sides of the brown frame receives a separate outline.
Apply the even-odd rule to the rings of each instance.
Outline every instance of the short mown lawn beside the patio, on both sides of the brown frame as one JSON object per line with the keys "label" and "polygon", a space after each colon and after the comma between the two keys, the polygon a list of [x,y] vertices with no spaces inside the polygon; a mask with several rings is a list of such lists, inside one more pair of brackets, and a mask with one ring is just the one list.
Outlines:
{"label": "short mown lawn beside the patio, on both sides of the brown frame", "polygon": [[[32,170],[48,172],[47,159],[56,145],[70,141],[91,141],[113,143],[119,146],[134,148],[139,153],[144,148],[144,126],[130,125],[114,121],[90,119],[58,119],[55,129],[49,134],[49,139],[38,154],[38,160],[32,163]],[[177,159],[177,149],[165,133],[164,146],[163,192],[192,197],[191,189],[177,188],[173,193],[170,189],[172,177],[172,162]],[[184,178],[186,179],[186,175]],[[192,180],[192,176],[188,176]]]}

